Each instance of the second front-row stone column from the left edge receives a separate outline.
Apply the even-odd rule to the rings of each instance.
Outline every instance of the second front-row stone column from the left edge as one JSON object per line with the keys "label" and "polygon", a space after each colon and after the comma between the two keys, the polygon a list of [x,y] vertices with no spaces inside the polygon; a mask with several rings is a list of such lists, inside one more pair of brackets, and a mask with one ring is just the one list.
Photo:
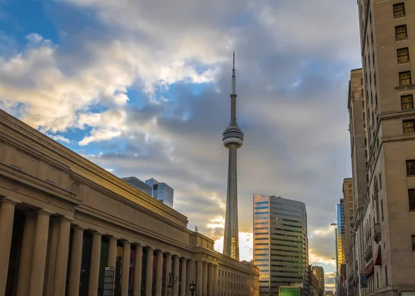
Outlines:
{"label": "second front-row stone column from the left edge", "polygon": [[49,217],[45,210],[37,212],[35,246],[33,247],[32,272],[30,275],[30,296],[42,296],[48,248]]}

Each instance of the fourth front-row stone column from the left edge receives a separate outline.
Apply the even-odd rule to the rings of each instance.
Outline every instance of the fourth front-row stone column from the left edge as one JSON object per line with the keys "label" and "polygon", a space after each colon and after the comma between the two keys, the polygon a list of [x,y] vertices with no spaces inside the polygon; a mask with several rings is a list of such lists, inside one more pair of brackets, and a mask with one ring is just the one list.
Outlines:
{"label": "fourth front-row stone column from the left edge", "polygon": [[84,228],[73,228],[71,269],[69,270],[68,296],[78,296],[80,293],[82,242],[84,241]]}

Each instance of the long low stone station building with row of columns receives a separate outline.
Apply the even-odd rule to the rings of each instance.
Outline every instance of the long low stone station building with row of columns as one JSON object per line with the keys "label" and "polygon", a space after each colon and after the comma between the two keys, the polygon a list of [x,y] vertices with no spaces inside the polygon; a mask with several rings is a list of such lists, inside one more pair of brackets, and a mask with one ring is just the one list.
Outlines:
{"label": "long low stone station building with row of columns", "polygon": [[0,110],[0,296],[107,295],[107,270],[113,295],[259,295],[258,268],[187,222]]}

